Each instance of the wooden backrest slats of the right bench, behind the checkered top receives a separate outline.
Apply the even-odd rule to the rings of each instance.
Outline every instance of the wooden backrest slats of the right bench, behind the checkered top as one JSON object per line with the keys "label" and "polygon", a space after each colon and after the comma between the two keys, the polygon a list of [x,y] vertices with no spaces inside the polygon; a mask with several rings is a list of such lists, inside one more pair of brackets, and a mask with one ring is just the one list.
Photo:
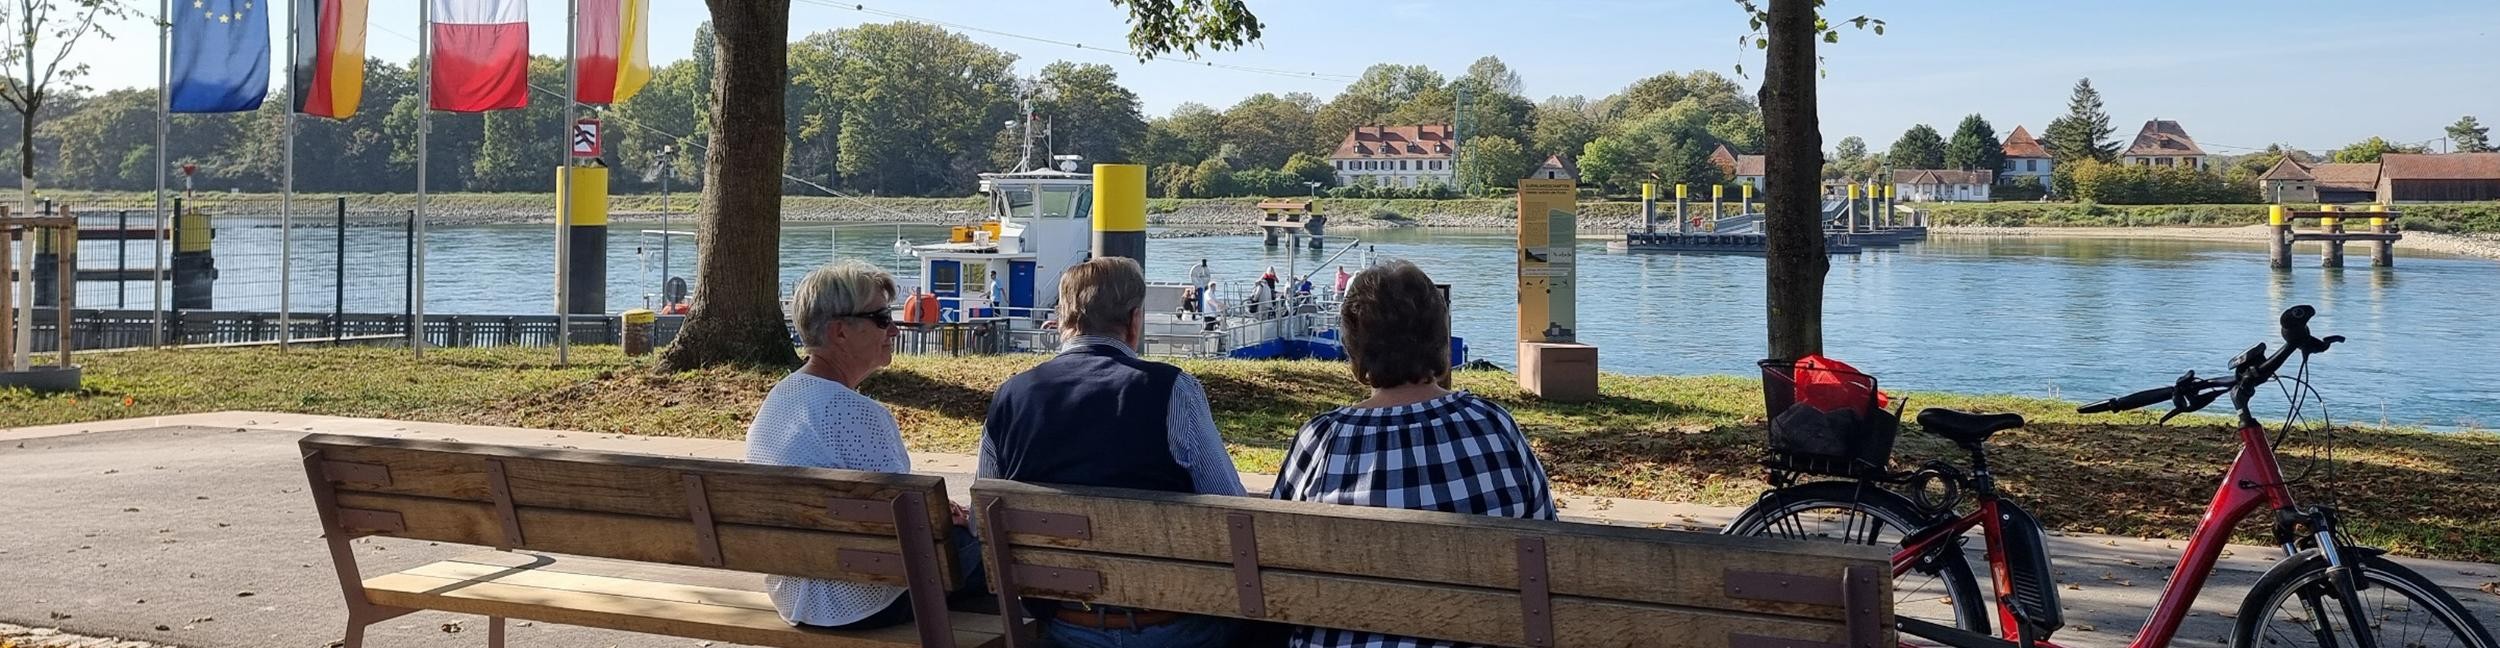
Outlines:
{"label": "wooden backrest slats of the right bench, behind the checkered top", "polygon": [[1230,565],[1228,515],[1248,513],[1258,530],[1260,568],[1495,590],[1518,590],[1515,543],[1522,535],[1538,535],[1545,538],[1552,595],[1812,620],[1842,620],[1842,610],[1840,605],[1730,598],[1725,595],[1728,570],[1840,578],[1850,565],[1885,568],[1888,560],[1880,548],[1845,543],[1782,543],[1658,528],[1012,480],[980,480],[972,485],[972,498],[1000,498],[1008,510],[1060,513],[1085,518],[1092,525],[1088,538],[1010,533],[1015,545]]}

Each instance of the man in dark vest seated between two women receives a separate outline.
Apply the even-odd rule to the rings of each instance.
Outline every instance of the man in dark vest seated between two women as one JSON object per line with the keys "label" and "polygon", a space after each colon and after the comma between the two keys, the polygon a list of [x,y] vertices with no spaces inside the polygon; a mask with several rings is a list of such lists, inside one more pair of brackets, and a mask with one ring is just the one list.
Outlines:
{"label": "man in dark vest seated between two women", "polygon": [[[1145,273],[1128,258],[1060,275],[1060,355],[1008,378],[980,433],[980,478],[1242,495],[1208,390],[1138,358]],[[1225,645],[1222,618],[1038,603],[1048,645]]]}

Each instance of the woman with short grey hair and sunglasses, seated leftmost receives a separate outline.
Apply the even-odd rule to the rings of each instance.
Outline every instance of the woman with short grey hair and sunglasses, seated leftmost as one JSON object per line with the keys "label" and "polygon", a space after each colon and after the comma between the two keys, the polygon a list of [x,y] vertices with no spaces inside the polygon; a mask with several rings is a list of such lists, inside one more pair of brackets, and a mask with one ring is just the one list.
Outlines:
{"label": "woman with short grey hair and sunglasses, seated leftmost", "polygon": [[[912,470],[895,415],[860,393],[860,380],[895,360],[892,300],[895,278],[858,260],[818,268],[790,290],[790,320],[808,363],[772,385],[755,410],[748,463]],[[980,545],[962,523],[958,508],[948,538],[958,565],[980,565]],[[968,568],[950,603],[985,605],[985,583],[978,568]],[[912,620],[910,598],[898,585],[768,575],[765,590],[790,625],[870,630]]]}

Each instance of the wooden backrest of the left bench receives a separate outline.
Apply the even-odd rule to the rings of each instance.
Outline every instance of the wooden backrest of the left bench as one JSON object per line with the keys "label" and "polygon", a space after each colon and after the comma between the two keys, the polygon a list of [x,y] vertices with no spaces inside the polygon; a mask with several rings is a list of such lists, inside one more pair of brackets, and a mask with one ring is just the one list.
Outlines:
{"label": "wooden backrest of the left bench", "polygon": [[[410,438],[308,435],[298,445],[328,535],[955,583],[945,483],[932,475]],[[908,560],[935,560],[920,570],[932,583],[912,583]]]}

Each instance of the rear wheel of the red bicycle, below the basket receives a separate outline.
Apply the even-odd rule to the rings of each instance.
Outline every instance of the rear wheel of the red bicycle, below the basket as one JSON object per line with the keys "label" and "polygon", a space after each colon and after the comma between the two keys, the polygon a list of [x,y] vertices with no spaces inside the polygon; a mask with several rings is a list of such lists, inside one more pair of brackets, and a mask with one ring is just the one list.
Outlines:
{"label": "rear wheel of the red bicycle, below the basket", "polygon": [[[1845,540],[1898,548],[1905,535],[1925,528],[1930,515],[1908,498],[1865,483],[1820,480],[1762,493],[1725,535]],[[1952,628],[1988,633],[1988,605],[1980,580],[1970,575],[1962,550],[1942,550],[1892,578],[1892,613]]]}

